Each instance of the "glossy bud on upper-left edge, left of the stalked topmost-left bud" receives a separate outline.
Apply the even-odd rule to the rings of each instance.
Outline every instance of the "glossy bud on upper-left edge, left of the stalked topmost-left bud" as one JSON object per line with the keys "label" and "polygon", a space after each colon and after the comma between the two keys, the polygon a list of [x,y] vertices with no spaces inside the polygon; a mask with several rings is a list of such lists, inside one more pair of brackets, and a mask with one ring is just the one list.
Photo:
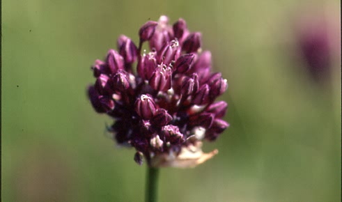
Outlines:
{"label": "glossy bud on upper-left edge, left of the stalked topmost-left bud", "polygon": [[121,56],[123,56],[125,63],[132,64],[137,60],[137,47],[127,36],[121,35],[118,38],[118,50]]}

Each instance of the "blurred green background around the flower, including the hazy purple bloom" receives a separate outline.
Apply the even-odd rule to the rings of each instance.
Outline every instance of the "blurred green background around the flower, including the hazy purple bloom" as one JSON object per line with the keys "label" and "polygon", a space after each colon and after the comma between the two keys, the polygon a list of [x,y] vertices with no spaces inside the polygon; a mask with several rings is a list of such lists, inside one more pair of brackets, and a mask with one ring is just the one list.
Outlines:
{"label": "blurred green background around the flower, including the hazy purple bloom", "polygon": [[146,165],[105,132],[90,70],[120,34],[168,15],[203,33],[228,79],[231,127],[195,169],[162,169],[160,201],[341,201],[336,0],[2,3],[2,201],[143,201]]}

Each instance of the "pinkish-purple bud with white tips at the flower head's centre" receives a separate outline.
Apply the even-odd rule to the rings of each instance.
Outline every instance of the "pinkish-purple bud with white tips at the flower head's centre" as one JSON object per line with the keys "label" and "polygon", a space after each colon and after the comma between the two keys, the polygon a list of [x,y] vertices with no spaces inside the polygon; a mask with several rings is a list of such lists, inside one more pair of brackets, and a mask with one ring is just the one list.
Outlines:
{"label": "pinkish-purple bud with white tips at the flower head's centre", "polygon": [[167,91],[171,88],[172,70],[170,67],[158,66],[153,72],[148,84],[156,91]]}

